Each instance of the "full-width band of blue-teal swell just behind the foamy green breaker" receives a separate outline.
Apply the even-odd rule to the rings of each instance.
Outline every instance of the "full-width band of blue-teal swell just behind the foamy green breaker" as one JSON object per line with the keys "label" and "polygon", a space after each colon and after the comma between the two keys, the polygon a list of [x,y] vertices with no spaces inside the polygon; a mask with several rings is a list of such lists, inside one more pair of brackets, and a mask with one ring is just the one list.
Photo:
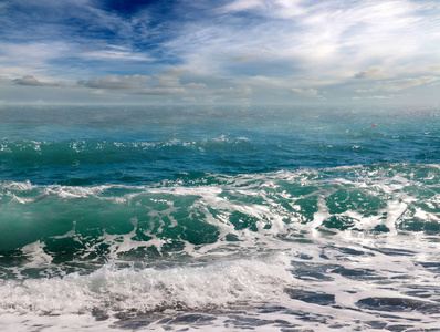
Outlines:
{"label": "full-width band of blue-teal swell just behind the foamy green breaker", "polygon": [[438,144],[431,134],[389,137],[389,134],[364,132],[353,136],[350,132],[333,135],[319,129],[315,137],[290,128],[284,134],[262,135],[251,131],[195,137],[169,134],[128,142],[112,137],[48,142],[3,138],[0,170],[3,180],[93,186],[154,184],[174,179],[181,173],[239,175],[439,160]]}

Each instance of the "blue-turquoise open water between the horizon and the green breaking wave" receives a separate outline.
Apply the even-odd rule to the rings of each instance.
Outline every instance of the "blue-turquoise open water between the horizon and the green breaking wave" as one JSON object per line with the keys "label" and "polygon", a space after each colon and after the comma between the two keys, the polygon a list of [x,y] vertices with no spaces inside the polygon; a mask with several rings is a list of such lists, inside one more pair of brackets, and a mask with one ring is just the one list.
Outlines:
{"label": "blue-turquoise open water between the horizon and the green breaking wave", "polygon": [[439,158],[434,110],[72,107],[1,113],[3,179],[41,185],[144,185],[181,173],[237,175]]}

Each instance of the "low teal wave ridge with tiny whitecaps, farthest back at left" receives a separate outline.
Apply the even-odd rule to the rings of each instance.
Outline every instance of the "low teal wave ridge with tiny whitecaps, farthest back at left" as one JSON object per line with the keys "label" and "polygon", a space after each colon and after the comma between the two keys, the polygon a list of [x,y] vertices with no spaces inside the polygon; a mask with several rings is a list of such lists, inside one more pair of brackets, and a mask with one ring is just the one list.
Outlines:
{"label": "low teal wave ridge with tiny whitecaps, farthest back at left", "polygon": [[[60,165],[122,163],[127,159],[154,160],[171,159],[179,154],[191,152],[212,153],[235,149],[252,149],[245,137],[227,137],[226,135],[209,139],[163,139],[148,142],[114,142],[102,139],[69,141],[11,141],[0,142],[0,157],[3,163],[18,165]],[[208,152],[207,152],[208,151]]]}

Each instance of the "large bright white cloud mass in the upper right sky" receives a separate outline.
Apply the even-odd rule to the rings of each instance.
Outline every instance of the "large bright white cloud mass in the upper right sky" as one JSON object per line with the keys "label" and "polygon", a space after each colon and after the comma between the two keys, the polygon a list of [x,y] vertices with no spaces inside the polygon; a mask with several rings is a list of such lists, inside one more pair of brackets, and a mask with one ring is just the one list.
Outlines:
{"label": "large bright white cloud mass in the upper right sky", "polygon": [[[354,73],[359,79],[388,79],[440,53],[440,34],[432,21],[440,6],[430,6],[429,14],[422,15],[425,7],[409,0],[229,1],[220,12],[245,11],[259,19],[249,20],[250,25],[229,15],[221,24],[191,22],[166,46],[181,54],[185,68],[205,74],[234,76],[226,72],[230,59],[239,73],[241,63],[258,59],[252,73],[247,68],[248,76],[285,69],[280,76],[307,75],[316,84],[344,83]],[[369,69],[359,73],[359,68]]]}

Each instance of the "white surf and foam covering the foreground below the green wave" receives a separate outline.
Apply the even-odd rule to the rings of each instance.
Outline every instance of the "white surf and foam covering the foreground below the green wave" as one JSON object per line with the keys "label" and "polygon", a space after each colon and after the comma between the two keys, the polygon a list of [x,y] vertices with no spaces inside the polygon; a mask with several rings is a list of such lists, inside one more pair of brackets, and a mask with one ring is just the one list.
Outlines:
{"label": "white surf and foam covering the foreground below the green wave", "polygon": [[[437,249],[436,242],[418,234],[380,238],[345,234],[291,242],[283,253],[166,269],[121,269],[108,262],[88,276],[3,282],[0,329],[30,331],[29,322],[44,324],[48,331],[60,326],[99,331],[111,325],[134,330],[143,323],[149,331],[437,329],[437,274],[420,266],[438,261]],[[326,300],[332,297],[334,304]],[[384,299],[385,304],[359,308],[359,301],[368,299]],[[392,304],[399,301],[402,307]],[[153,317],[143,318],[149,311]],[[72,315],[77,313],[81,317]],[[92,314],[109,318],[94,322]],[[126,318],[115,322],[113,314]]]}

